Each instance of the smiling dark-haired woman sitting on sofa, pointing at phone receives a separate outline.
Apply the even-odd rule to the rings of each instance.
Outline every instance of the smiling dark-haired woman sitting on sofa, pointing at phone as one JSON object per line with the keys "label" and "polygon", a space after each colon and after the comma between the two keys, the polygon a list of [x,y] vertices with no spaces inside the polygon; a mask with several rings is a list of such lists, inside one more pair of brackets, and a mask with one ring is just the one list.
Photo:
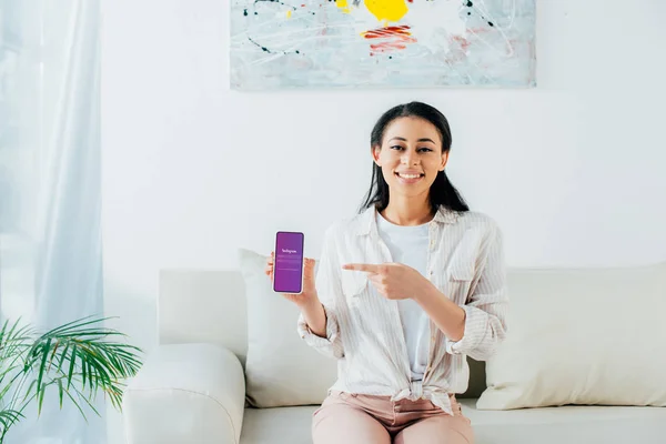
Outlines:
{"label": "smiling dark-haired woman sitting on sofa, pointing at phone", "polygon": [[307,259],[303,293],[285,294],[305,342],[337,359],[314,444],[474,441],[455,393],[467,389],[465,356],[487,360],[505,336],[505,269],[496,223],[446,178],[450,150],[433,107],[384,113],[362,212],[329,228],[316,280]]}

